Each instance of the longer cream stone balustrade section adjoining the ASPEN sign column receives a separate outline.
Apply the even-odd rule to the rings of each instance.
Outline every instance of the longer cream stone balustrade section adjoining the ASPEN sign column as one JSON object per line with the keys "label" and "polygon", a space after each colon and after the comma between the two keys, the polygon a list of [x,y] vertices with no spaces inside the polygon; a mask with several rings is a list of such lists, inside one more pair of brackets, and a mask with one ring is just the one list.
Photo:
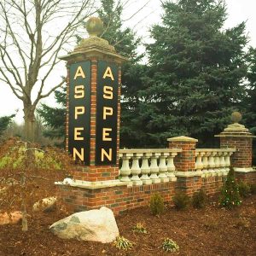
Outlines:
{"label": "longer cream stone balustrade section adjoining the ASPEN sign column", "polygon": [[131,185],[176,181],[174,157],[180,148],[120,149],[120,181]]}

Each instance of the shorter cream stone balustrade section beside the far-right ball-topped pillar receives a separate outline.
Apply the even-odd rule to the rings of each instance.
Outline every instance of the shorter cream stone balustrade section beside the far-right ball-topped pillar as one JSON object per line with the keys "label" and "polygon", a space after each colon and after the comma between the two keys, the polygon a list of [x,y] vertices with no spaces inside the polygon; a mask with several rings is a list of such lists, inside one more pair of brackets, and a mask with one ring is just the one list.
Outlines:
{"label": "shorter cream stone balustrade section beside the far-right ball-topped pillar", "polygon": [[234,152],[235,148],[198,148],[195,150],[195,170],[201,172],[201,177],[227,175]]}

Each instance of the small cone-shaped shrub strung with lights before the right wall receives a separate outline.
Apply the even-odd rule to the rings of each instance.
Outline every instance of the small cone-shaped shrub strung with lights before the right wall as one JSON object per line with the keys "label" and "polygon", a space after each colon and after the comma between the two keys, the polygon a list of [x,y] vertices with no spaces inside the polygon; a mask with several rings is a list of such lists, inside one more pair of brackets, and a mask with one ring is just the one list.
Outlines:
{"label": "small cone-shaped shrub strung with lights before the right wall", "polygon": [[219,205],[229,209],[241,205],[241,197],[239,195],[238,184],[235,179],[234,169],[231,167],[227,179],[221,189]]}

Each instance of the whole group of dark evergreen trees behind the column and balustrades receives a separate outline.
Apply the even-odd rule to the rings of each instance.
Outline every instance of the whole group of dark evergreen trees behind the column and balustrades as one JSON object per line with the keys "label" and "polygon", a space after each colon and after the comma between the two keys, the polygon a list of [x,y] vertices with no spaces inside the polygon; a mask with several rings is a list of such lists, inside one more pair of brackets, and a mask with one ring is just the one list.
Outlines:
{"label": "whole group of dark evergreen trees behind the column and balustrades", "polygon": [[[233,111],[256,133],[256,49],[246,23],[224,28],[224,0],[161,1],[161,7],[160,24],[150,28],[153,43],[143,53],[137,51],[141,38],[123,25],[119,1],[102,0],[97,10],[102,38],[130,59],[122,74],[121,147],[165,147],[166,138],[180,135],[212,147]],[[45,136],[64,141],[65,85],[54,93],[61,108],[41,104],[37,112]]]}

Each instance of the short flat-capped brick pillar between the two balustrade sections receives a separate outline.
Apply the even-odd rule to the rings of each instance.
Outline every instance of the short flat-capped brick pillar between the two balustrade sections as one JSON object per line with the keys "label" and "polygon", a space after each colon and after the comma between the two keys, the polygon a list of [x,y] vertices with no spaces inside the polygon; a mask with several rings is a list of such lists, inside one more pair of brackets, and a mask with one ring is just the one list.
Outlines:
{"label": "short flat-capped brick pillar between the two balustrade sections", "polygon": [[177,189],[188,195],[201,189],[201,173],[195,172],[195,145],[197,139],[191,137],[168,138],[169,148],[182,148],[182,152],[174,159]]}

